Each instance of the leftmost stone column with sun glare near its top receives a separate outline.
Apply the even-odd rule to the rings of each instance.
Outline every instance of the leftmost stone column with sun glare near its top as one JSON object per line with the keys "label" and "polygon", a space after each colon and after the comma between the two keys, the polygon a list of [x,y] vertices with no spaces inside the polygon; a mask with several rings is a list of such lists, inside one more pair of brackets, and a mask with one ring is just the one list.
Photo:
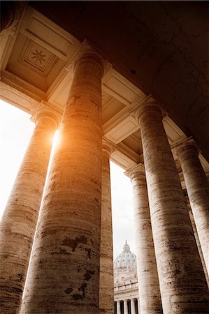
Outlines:
{"label": "leftmost stone column with sun glare near its top", "polygon": [[4,314],[16,313],[22,300],[58,120],[58,115],[44,105],[36,112],[36,127],[1,219],[0,303]]}

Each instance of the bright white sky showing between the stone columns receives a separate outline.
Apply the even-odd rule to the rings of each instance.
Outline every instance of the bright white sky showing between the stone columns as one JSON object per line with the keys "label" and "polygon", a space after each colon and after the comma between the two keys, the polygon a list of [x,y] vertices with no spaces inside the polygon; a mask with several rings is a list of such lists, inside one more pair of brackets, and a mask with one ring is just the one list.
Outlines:
{"label": "bright white sky showing between the stone columns", "polygon": [[[30,114],[0,100],[0,218],[33,130]],[[115,259],[122,253],[126,240],[131,251],[136,253],[134,209],[131,181],[124,175],[124,170],[110,162],[110,177]]]}

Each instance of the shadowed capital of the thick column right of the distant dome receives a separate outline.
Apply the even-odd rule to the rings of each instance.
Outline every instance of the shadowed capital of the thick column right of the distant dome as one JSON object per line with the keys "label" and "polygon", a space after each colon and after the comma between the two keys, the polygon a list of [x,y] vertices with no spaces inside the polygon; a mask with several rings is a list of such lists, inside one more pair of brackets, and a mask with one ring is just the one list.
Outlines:
{"label": "shadowed capital of the thick column right of the distant dome", "polygon": [[162,118],[166,115],[166,112],[163,110],[163,108],[153,100],[142,103],[138,107],[135,107],[134,110],[130,112],[130,114],[131,117],[134,117],[134,119],[139,121],[140,116],[146,112],[159,112]]}

